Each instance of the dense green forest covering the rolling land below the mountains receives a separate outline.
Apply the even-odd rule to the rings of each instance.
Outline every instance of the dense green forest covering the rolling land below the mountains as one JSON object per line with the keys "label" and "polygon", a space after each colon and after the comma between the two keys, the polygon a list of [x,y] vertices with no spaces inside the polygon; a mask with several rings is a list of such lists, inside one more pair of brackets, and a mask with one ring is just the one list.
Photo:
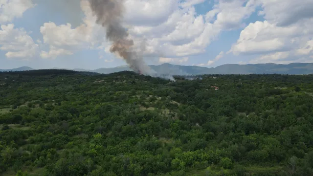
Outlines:
{"label": "dense green forest covering the rolling land below the mountains", "polygon": [[0,73],[0,175],[313,176],[313,75],[176,79]]}

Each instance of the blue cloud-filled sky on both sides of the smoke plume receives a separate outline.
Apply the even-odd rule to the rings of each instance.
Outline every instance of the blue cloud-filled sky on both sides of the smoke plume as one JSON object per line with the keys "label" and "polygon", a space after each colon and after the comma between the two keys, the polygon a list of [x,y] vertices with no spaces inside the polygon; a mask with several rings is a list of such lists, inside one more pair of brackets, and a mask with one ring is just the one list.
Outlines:
{"label": "blue cloud-filled sky on both sides of the smoke plume", "polygon": [[[313,63],[313,0],[123,0],[146,64]],[[115,67],[88,0],[0,0],[0,68]]]}

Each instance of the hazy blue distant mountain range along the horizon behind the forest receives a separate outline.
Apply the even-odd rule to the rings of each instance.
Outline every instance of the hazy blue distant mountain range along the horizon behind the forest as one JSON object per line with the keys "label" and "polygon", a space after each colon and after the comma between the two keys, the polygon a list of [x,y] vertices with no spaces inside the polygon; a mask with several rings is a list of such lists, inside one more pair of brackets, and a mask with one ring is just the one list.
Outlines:
{"label": "hazy blue distant mountain range along the horizon behind the forest", "polygon": [[[156,72],[171,75],[196,75],[196,74],[313,74],[313,63],[291,63],[283,64],[225,64],[217,67],[201,67],[201,66],[179,66],[172,64],[162,64],[158,66],[150,66]],[[66,68],[51,68],[51,69],[66,69]],[[23,66],[15,69],[6,69],[0,71],[23,71],[33,70],[31,67]],[[82,68],[69,69],[75,71],[89,71],[96,73],[109,74],[119,71],[131,71],[129,66],[117,66],[112,68],[98,68],[94,70],[87,70]]]}

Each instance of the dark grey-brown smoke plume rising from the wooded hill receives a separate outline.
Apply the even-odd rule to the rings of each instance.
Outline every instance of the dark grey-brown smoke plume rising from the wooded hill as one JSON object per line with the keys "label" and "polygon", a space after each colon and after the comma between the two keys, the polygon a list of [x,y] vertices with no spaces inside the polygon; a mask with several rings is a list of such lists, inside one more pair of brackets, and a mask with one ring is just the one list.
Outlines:
{"label": "dark grey-brown smoke plume rising from the wooded hill", "polygon": [[[159,75],[147,66],[143,58],[134,51],[134,41],[129,39],[127,29],[121,22],[124,14],[124,0],[89,0],[96,22],[107,29],[106,38],[113,44],[110,52],[117,53],[137,73],[150,76]],[[164,77],[164,76],[163,76]],[[165,77],[174,80],[172,76]]]}

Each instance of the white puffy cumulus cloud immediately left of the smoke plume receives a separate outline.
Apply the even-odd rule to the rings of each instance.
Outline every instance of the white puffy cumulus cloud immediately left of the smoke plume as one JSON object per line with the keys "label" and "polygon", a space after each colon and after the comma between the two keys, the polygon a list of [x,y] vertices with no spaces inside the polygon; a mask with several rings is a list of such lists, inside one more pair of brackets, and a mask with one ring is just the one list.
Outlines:
{"label": "white puffy cumulus cloud immediately left of the smoke plume", "polygon": [[50,48],[42,51],[42,58],[56,58],[59,55],[72,55],[79,49],[99,47],[104,42],[105,31],[95,23],[95,17],[89,8],[87,0],[81,1],[81,8],[86,17],[83,24],[73,28],[70,23],[56,25],[54,22],[45,22],[40,27],[43,35],[43,43]]}

